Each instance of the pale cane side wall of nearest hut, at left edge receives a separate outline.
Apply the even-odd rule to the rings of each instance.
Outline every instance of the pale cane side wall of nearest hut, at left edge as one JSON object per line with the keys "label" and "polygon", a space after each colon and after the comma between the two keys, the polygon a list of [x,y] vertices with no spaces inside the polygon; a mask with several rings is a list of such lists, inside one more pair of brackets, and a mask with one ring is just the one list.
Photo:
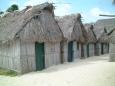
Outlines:
{"label": "pale cane side wall of nearest hut, at left edge", "polygon": [[18,39],[0,45],[0,67],[21,72],[20,41]]}

